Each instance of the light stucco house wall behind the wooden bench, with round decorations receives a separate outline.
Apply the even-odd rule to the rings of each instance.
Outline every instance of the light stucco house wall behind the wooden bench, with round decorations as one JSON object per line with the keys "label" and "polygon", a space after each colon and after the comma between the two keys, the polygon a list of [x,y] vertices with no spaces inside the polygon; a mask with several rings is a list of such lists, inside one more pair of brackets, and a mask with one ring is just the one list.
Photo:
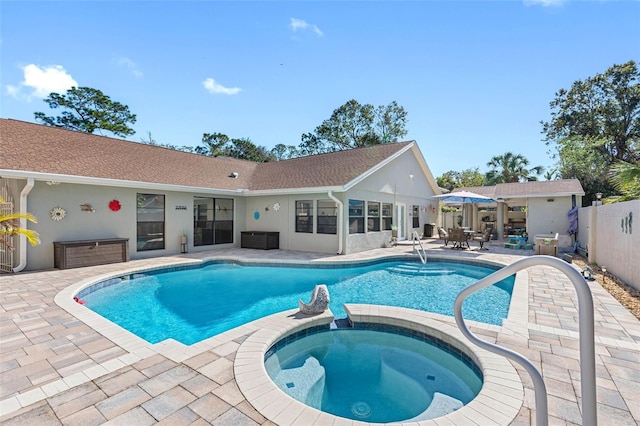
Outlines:
{"label": "light stucco house wall behind the wooden bench, with round decorations", "polygon": [[[136,197],[138,193],[163,194],[165,196],[165,249],[137,251],[136,248]],[[29,227],[38,231],[42,243],[27,248],[27,270],[48,269],[54,266],[53,242],[87,240],[99,238],[129,238],[129,254],[131,259],[141,259],[180,253],[180,235],[188,234],[189,251],[212,250],[229,247],[233,244],[214,246],[193,246],[193,199],[194,196],[214,197],[211,194],[187,192],[155,191],[149,189],[117,188],[95,185],[77,185],[61,183],[47,185],[36,181],[29,193],[28,210],[38,218],[37,224]],[[228,195],[221,198],[234,198]],[[109,201],[117,199],[122,208],[118,212],[109,209]],[[81,211],[81,204],[90,204],[95,212]],[[237,220],[238,210],[243,209],[244,202],[234,208],[234,238],[239,241],[243,223]],[[66,216],[60,221],[53,221],[49,212],[54,207],[66,210]],[[176,208],[178,207],[178,208]],[[186,209],[183,209],[186,207]],[[238,225],[241,226],[238,226]]]}

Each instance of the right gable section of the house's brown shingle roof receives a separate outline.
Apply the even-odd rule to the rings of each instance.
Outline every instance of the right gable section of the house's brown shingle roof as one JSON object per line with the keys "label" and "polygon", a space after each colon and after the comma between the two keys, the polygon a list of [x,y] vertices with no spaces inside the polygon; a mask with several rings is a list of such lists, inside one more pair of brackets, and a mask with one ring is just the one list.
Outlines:
{"label": "right gable section of the house's brown shingle roof", "polygon": [[344,187],[413,143],[373,145],[263,163],[257,168],[249,189]]}

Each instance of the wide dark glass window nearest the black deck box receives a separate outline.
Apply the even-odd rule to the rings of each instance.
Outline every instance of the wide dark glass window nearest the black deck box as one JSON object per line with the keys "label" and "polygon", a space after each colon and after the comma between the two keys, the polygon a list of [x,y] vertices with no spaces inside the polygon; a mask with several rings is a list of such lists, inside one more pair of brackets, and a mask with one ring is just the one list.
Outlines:
{"label": "wide dark glass window nearest the black deck box", "polygon": [[210,246],[233,242],[233,200],[193,199],[193,245]]}

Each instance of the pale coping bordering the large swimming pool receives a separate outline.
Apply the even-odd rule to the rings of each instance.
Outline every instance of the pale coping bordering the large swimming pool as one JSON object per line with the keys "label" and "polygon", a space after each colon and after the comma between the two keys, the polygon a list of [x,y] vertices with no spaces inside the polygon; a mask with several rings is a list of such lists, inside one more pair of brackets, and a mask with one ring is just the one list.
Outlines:
{"label": "pale coping bordering the large swimming pool", "polygon": [[[150,343],[141,337],[135,335],[129,330],[121,327],[120,325],[111,322],[110,320],[102,317],[98,313],[88,309],[87,307],[77,303],[74,300],[74,296],[81,293],[83,290],[100,283],[102,281],[107,281],[110,279],[133,275],[137,273],[144,273],[149,271],[161,271],[161,270],[170,270],[172,268],[179,267],[198,267],[204,265],[208,262],[213,261],[230,261],[230,262],[238,262],[241,264],[271,264],[271,265],[286,265],[286,264],[295,264],[295,265],[313,265],[313,264],[328,264],[335,263],[340,265],[360,265],[360,264],[368,264],[368,263],[380,263],[380,262],[388,262],[394,259],[399,261],[407,260],[407,258],[415,259],[417,255],[390,255],[384,257],[378,257],[375,259],[368,260],[344,260],[344,261],[336,261],[332,260],[301,260],[301,261],[291,261],[291,260],[265,260],[260,262],[255,261],[246,261],[240,259],[235,256],[211,256],[202,259],[187,259],[181,258],[176,259],[175,261],[168,262],[161,267],[149,266],[149,267],[135,267],[135,268],[127,268],[122,269],[116,272],[110,272],[106,274],[96,275],[94,277],[81,280],[75,284],[72,284],[55,295],[54,302],[60,306],[62,309],[67,311],[69,314],[73,315],[80,321],[84,322],[89,327],[93,328],[98,333],[102,334],[116,345],[120,346],[124,350],[134,354],[140,354],[143,356],[159,354],[163,355],[172,361],[182,362],[187,358],[190,358],[195,355],[199,355],[202,352],[210,350],[220,344],[228,342],[234,338],[239,336],[246,335],[248,333],[252,333],[259,328],[257,323],[260,322],[260,319],[243,324],[241,326],[235,327],[231,330],[225,331],[220,334],[216,334],[215,336],[209,337],[207,339],[201,340],[200,342],[194,343],[192,345],[185,345],[183,343],[178,342],[172,338],[165,339],[158,343]],[[446,256],[446,255],[431,255],[429,259],[433,259],[435,261],[448,261],[454,263],[464,263],[464,264],[475,264],[478,266],[493,266],[493,267],[504,267],[504,263],[490,261],[490,260],[482,260],[478,261],[475,259],[461,259],[460,257],[455,256]],[[516,274],[516,279],[514,282],[513,291],[511,294],[511,303],[509,306],[509,312],[507,314],[507,318],[503,320],[503,324],[508,322],[510,324],[510,328],[515,326],[526,328],[528,321],[528,310],[529,310],[529,301],[528,301],[528,283],[529,276],[526,270],[519,271]],[[382,305],[380,305],[382,306]],[[446,318],[446,316],[443,316]],[[453,319],[453,317],[451,317]],[[500,331],[502,326],[486,324],[477,321],[467,321],[468,324],[473,325],[476,328],[487,329],[487,330],[495,330]],[[131,359],[129,359],[131,358]],[[119,360],[119,363],[115,363],[119,365],[119,367],[129,365],[132,362],[135,362],[132,357],[126,357],[123,355],[122,359]],[[115,365],[113,366],[115,368]],[[107,371],[111,372],[111,371]]]}

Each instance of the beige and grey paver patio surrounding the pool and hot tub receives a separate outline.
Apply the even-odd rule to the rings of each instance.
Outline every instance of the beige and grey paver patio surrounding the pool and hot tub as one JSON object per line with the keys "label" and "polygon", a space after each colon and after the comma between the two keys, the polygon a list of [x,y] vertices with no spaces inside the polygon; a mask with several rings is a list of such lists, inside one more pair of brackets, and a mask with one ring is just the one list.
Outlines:
{"label": "beige and grey paver patio surrounding the pool and hot tub", "polygon": [[[529,251],[494,242],[489,251],[458,251],[428,240],[427,253],[511,263]],[[475,248],[475,247],[474,247]],[[404,254],[410,246],[372,250],[335,260]],[[225,333],[214,345],[182,356],[148,347],[125,348],[55,302],[64,288],[96,275],[136,266],[172,264],[185,257],[328,259],[313,253],[229,249],[70,270],[0,275],[0,422],[3,425],[254,425],[272,424],[238,389],[236,350],[251,331]],[[541,370],[549,392],[549,423],[580,424],[577,297],[569,279],[550,267],[527,269],[528,319],[502,327],[472,327],[486,340],[524,354]],[[595,281],[598,422],[640,424],[640,321]],[[292,307],[295,308],[295,307]],[[452,324],[453,319],[445,319]],[[244,330],[244,332],[243,332]],[[244,334],[243,334],[244,333]],[[515,365],[525,399],[515,425],[535,422],[531,380]],[[298,422],[298,424],[302,424]]]}

